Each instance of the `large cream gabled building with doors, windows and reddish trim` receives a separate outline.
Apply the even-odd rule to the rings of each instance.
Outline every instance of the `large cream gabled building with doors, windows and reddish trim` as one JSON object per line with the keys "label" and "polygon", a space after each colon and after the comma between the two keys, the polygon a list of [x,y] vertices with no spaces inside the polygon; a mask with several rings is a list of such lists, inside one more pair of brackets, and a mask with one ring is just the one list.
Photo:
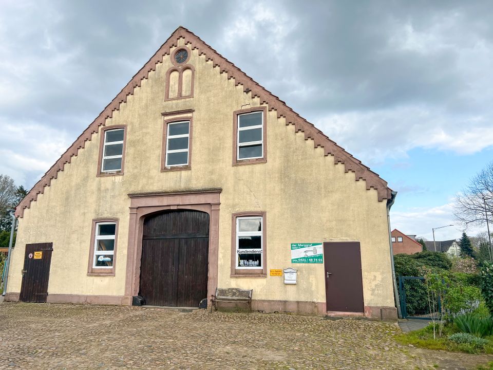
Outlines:
{"label": "large cream gabled building with doors, windows and reddish trim", "polygon": [[180,27],[17,206],[6,299],[395,318],[394,197]]}

